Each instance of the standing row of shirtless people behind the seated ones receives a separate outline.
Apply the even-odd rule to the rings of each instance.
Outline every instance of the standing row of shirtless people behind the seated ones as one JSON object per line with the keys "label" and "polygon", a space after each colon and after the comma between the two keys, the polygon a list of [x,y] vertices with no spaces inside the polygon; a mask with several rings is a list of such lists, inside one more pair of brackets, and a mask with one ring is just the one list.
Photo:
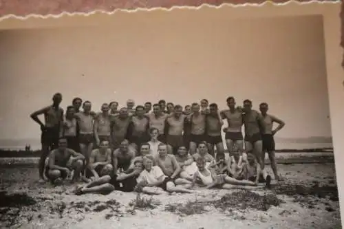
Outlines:
{"label": "standing row of shirtless people behind the seated ones", "polygon": [[[270,160],[274,164],[272,170],[275,177],[279,178],[274,163],[273,135],[283,128],[284,122],[267,113],[266,103],[260,105],[261,113],[259,113],[252,109],[250,100],[244,100],[242,108],[236,107],[233,97],[227,98],[229,109],[224,111],[219,111],[215,103],[208,105],[207,100],[202,100],[201,105],[193,103],[190,111],[187,109],[183,111],[182,106],[173,106],[169,103],[167,106],[169,108],[165,111],[165,102],[160,101],[160,104],[152,106],[153,112],[151,112],[151,103],[147,102],[144,106],[137,106],[134,109],[133,100],[128,100],[127,107],[119,111],[118,103],[111,102],[110,105],[106,103],[102,105],[102,112],[95,113],[92,111],[91,102],[82,102],[80,98],[74,98],[72,105],[67,107],[66,115],[63,116],[63,109],[59,107],[61,101],[61,94],[55,94],[53,105],[31,115],[32,119],[41,125],[43,149],[41,161],[43,162],[49,148],[53,149],[56,146],[58,136],[67,138],[68,147],[80,151],[88,162],[94,145],[99,145],[102,140],[110,142],[111,148],[115,150],[122,140],[127,139],[137,151],[142,142],[149,140],[151,128],[158,130],[158,140],[167,144],[169,153],[176,153],[179,146],[187,146],[193,155],[196,153],[197,145],[202,141],[208,142],[208,149],[212,155],[214,148],[217,153],[224,153],[222,126],[223,120],[227,120],[228,127],[223,131],[226,133],[228,151],[232,151],[233,144],[237,145],[241,153],[252,151],[263,168],[262,159],[268,151]],[[80,111],[81,105],[83,111]],[[44,114],[45,124],[39,120],[40,114]],[[279,124],[276,129],[272,129],[274,122]],[[241,132],[243,125],[245,138]],[[43,178],[42,162],[40,162],[40,176]]]}

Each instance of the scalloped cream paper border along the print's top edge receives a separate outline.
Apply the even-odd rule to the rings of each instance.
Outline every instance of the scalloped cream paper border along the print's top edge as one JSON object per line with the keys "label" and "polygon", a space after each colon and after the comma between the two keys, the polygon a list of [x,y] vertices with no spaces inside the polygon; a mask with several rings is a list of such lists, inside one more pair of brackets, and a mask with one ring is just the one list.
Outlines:
{"label": "scalloped cream paper border along the print's top edge", "polygon": [[116,9],[116,10],[112,10],[112,11],[105,11],[105,10],[94,10],[91,12],[61,12],[60,14],[46,14],[46,15],[42,15],[42,14],[28,14],[26,16],[17,16],[15,14],[7,14],[3,17],[0,17],[0,22],[4,21],[6,19],[19,19],[19,20],[26,20],[26,19],[31,19],[31,18],[35,18],[35,19],[58,19],[60,17],[74,17],[74,16],[84,16],[84,17],[88,17],[91,16],[92,14],[108,14],[108,15],[112,15],[115,14],[116,12],[139,12],[139,11],[144,11],[144,12],[149,12],[149,11],[153,11],[153,10],[164,10],[164,11],[171,11],[171,10],[175,10],[175,9],[186,9],[186,10],[199,10],[200,8],[204,8],[204,7],[208,7],[208,8],[222,8],[223,6],[230,6],[233,8],[240,8],[240,7],[262,7],[262,6],[266,6],[268,4],[272,5],[272,6],[286,6],[290,3],[294,3],[297,5],[309,5],[312,3],[318,3],[318,4],[337,4],[337,3],[341,3],[341,0],[325,0],[325,1],[319,1],[319,0],[310,0],[310,1],[297,1],[297,0],[290,0],[290,1],[286,1],[283,3],[275,3],[272,0],[267,0],[264,1],[263,3],[241,3],[241,4],[234,4],[234,3],[222,3],[219,6],[213,6],[211,4],[208,3],[203,3],[200,6],[172,6],[171,8],[164,8],[164,7],[155,7],[155,8],[136,8],[136,9],[132,9],[132,10],[127,10],[127,9]]}

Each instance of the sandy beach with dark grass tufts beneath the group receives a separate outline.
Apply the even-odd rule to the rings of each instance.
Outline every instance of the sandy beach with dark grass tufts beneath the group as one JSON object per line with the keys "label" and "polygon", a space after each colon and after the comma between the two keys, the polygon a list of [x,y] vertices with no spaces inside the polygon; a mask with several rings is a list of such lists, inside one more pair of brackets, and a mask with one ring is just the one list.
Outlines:
{"label": "sandy beach with dark grass tufts beneath the group", "polygon": [[279,171],[271,190],[76,196],[70,184],[38,184],[35,166],[1,166],[0,228],[341,228],[334,164]]}

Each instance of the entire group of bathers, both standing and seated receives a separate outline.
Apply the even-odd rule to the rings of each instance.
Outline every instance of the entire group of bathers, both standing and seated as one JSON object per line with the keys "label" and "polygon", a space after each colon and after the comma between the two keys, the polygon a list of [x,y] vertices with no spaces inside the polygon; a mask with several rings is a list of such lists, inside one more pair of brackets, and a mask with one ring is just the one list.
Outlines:
{"label": "entire group of bathers, both standing and seated", "polygon": [[31,114],[41,127],[40,182],[85,182],[76,187],[76,195],[269,187],[266,153],[275,179],[281,179],[274,135],[285,123],[268,114],[266,102],[256,111],[251,100],[237,106],[231,96],[228,109],[206,99],[185,107],[165,100],[144,105],[127,100],[125,107],[105,102],[95,112],[92,102],[81,98],[74,98],[66,111],[60,93],[52,100]]}

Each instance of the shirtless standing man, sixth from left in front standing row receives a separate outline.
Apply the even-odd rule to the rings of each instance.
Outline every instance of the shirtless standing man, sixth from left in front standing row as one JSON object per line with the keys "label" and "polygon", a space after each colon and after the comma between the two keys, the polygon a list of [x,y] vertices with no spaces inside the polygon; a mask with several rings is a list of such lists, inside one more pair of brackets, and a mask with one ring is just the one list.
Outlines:
{"label": "shirtless standing man, sixth from left in front standing row", "polygon": [[144,116],[144,107],[136,107],[136,116],[131,117],[129,123],[127,139],[135,151],[140,149],[143,142],[149,141],[149,118]]}

